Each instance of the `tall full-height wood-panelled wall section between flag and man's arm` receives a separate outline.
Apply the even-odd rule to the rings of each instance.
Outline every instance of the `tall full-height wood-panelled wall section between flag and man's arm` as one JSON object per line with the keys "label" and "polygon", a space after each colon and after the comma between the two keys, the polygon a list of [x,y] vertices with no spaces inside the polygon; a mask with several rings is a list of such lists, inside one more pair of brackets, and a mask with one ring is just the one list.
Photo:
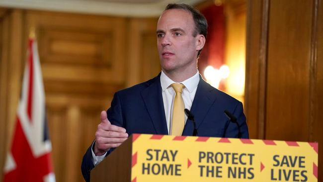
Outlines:
{"label": "tall full-height wood-panelled wall section between flag and man's arm", "polygon": [[27,11],[26,26],[38,39],[56,178],[80,182],[99,113],[126,82],[126,19]]}

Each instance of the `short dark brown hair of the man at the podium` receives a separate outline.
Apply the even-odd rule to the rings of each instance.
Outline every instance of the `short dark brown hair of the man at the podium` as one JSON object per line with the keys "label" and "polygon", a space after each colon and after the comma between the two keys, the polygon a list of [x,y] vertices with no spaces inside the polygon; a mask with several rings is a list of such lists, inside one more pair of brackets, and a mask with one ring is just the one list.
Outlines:
{"label": "short dark brown hair of the man at the podium", "polygon": [[[205,16],[199,10],[197,10],[195,7],[191,5],[184,4],[184,3],[180,3],[180,4],[170,3],[165,7],[164,10],[168,10],[168,9],[183,9],[190,12],[193,16],[193,20],[195,23],[195,32],[193,36],[195,37],[197,34],[202,34],[206,38],[208,23]],[[199,57],[201,51],[202,49],[199,50],[197,57]]]}

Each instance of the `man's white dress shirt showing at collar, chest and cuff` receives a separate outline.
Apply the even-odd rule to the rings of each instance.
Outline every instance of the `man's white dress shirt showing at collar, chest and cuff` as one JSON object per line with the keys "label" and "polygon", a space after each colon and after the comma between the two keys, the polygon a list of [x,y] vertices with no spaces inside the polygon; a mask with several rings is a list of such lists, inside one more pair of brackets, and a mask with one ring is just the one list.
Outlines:
{"label": "man's white dress shirt showing at collar, chest and cuff", "polygon": [[[194,100],[197,85],[200,82],[199,75],[200,74],[197,71],[193,77],[179,83],[179,84],[183,84],[185,86],[182,91],[182,98],[184,101],[185,108],[188,110],[191,110],[191,106],[192,106],[192,103]],[[166,74],[164,74],[161,71],[161,94],[162,94],[162,101],[164,104],[168,134],[170,133],[170,129],[171,129],[171,120],[172,120],[172,115],[173,115],[173,113],[172,113],[173,102],[174,102],[174,98],[175,98],[175,91],[171,87],[171,84],[173,84],[173,83],[176,83],[176,82],[172,81],[170,78],[168,78],[166,76]],[[186,123],[186,120],[187,120],[187,116],[185,114],[185,123]],[[92,143],[92,146],[91,146],[92,149],[93,149],[94,142]],[[92,150],[93,165],[96,166],[97,164],[99,164],[104,159],[105,154],[106,153],[104,153],[102,156],[95,156],[95,154]]]}

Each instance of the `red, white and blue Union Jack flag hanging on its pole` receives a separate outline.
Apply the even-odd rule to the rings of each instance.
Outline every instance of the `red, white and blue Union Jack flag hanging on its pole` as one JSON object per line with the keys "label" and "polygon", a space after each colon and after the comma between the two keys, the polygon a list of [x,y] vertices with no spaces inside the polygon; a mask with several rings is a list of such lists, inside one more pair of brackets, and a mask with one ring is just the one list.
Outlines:
{"label": "red, white and blue Union Jack flag hanging on its pole", "polygon": [[29,39],[28,60],[3,182],[55,182],[51,164],[45,93],[34,38]]}

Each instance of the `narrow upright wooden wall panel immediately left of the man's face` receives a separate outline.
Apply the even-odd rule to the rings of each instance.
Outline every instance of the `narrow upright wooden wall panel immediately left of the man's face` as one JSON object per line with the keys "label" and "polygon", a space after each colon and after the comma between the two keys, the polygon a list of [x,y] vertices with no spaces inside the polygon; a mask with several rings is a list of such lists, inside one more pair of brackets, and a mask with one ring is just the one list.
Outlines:
{"label": "narrow upright wooden wall panel immediately left of the man's face", "polygon": [[157,18],[134,18],[129,22],[127,87],[151,79],[161,71],[157,52]]}

